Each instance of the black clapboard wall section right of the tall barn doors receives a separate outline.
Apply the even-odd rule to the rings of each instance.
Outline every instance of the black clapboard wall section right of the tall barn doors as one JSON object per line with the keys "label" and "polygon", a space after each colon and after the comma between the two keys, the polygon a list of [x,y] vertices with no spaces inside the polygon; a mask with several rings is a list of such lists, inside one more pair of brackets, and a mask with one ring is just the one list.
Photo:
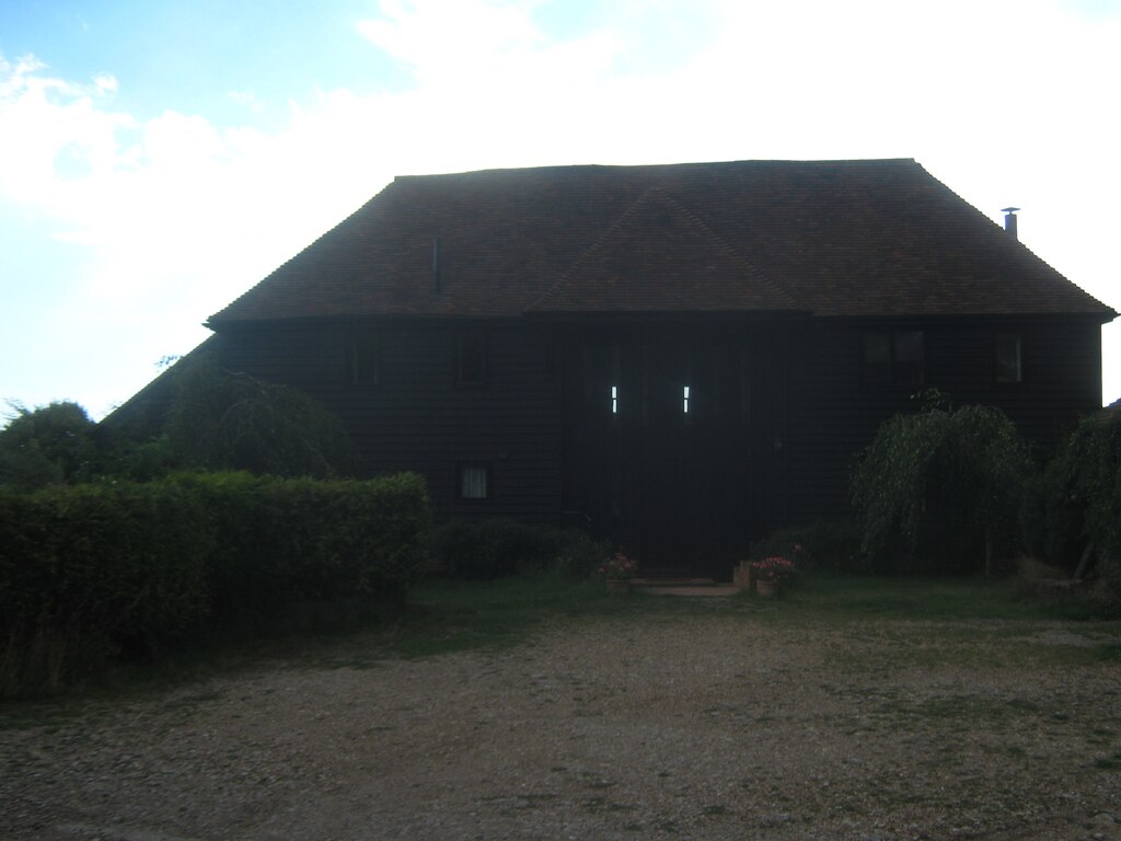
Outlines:
{"label": "black clapboard wall section right of the tall barn doors", "polygon": [[[921,330],[926,386],[954,406],[995,406],[1044,451],[1101,406],[1100,325],[1091,320],[822,322],[789,343],[785,440],[778,455],[777,523],[797,525],[847,512],[852,460],[879,425],[919,410],[919,390],[863,381],[863,335]],[[999,333],[1020,335],[1023,381],[995,376]]]}

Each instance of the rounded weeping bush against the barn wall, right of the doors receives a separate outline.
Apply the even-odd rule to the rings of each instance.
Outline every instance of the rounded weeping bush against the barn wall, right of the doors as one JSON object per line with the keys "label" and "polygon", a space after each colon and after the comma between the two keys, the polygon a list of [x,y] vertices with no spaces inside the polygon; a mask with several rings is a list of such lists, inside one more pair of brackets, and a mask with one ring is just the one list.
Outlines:
{"label": "rounded weeping bush against the barn wall, right of the doors", "polygon": [[[896,415],[858,458],[853,503],[876,571],[994,571],[1016,554],[1031,463],[999,409]],[[983,562],[982,562],[983,560]]]}

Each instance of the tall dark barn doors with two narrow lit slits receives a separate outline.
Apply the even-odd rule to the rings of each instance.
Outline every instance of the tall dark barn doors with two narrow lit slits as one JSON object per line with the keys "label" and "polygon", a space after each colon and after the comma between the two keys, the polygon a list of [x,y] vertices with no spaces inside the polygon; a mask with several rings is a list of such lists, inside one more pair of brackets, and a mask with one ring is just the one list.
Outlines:
{"label": "tall dark barn doors with two narrow lit slits", "polygon": [[734,343],[584,345],[566,376],[566,506],[647,572],[724,576],[751,520]]}

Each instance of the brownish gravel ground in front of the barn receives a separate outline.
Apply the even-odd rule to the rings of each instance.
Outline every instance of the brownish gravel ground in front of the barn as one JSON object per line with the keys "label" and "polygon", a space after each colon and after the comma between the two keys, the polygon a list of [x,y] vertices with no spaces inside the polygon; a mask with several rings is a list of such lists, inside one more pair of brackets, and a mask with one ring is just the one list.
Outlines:
{"label": "brownish gravel ground in front of the barn", "polygon": [[0,838],[1121,840],[1118,641],[720,610],[417,660],[351,640],[7,710]]}

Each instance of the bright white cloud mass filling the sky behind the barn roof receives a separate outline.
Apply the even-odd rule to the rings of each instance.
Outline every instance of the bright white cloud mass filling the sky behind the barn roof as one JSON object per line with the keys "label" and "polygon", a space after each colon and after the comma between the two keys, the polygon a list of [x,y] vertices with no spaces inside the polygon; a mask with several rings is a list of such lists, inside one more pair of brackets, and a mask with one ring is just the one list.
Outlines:
{"label": "bright white cloud mass filling the sky behind the barn roof", "polygon": [[[114,107],[108,73],[74,84],[0,57],[0,124],[16,127],[0,132],[0,201],[87,249],[58,330],[90,345],[115,331],[130,349],[112,363],[128,371],[113,392],[124,399],[159,357],[205,335],[198,322],[396,174],[733,158],[916,157],[993,216],[1022,206],[1025,241],[1121,305],[1103,204],[1121,187],[1118,18],[1041,0],[663,0],[610,4],[558,38],[544,8],[386,0],[359,28],[414,85],[323,91],[271,132],[174,111],[142,120]],[[666,41],[683,16],[714,22]],[[666,43],[682,52],[652,66]],[[230,96],[253,119],[251,91]],[[1115,344],[1108,333],[1111,359]],[[1118,397],[1121,359],[1110,364]]]}

